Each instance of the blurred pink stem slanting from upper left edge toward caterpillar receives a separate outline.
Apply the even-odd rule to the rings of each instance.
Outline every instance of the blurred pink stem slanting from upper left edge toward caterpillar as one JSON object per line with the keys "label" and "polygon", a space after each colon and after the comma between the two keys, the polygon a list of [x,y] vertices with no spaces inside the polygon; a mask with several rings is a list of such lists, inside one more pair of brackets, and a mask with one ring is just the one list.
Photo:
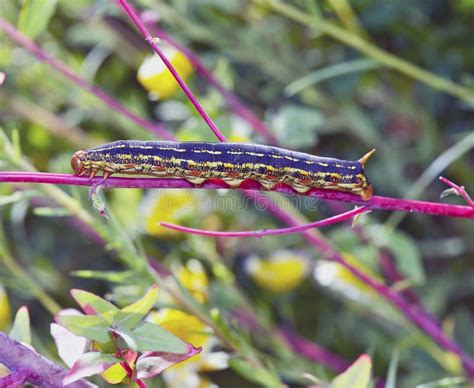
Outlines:
{"label": "blurred pink stem slanting from upper left edge toward caterpillar", "polygon": [[101,99],[107,106],[109,106],[116,112],[122,114],[136,125],[146,128],[150,132],[164,139],[174,139],[174,136],[170,132],[168,132],[163,125],[152,123],[140,116],[137,116],[135,113],[128,110],[122,103],[120,103],[118,100],[104,92],[102,89],[93,86],[84,79],[80,78],[69,67],[67,67],[66,64],[47,54],[34,41],[22,34],[20,31],[18,31],[13,25],[11,25],[1,16],[0,30],[3,30],[8,36],[10,36],[10,38],[12,38],[16,43],[18,43],[26,50],[34,54],[39,60],[49,64],[53,69],[64,75],[66,78],[70,79],[80,88],[94,94],[97,98]]}

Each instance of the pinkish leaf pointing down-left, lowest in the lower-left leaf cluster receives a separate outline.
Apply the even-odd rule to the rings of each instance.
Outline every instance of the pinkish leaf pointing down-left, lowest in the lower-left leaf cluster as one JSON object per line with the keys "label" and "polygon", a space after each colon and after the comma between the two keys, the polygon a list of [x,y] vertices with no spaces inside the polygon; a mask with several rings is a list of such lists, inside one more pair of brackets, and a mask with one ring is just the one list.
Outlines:
{"label": "pinkish leaf pointing down-left, lowest in the lower-left leaf cluster", "polygon": [[68,385],[83,377],[101,373],[117,362],[120,362],[120,359],[110,354],[100,352],[84,353],[69,369],[63,384]]}

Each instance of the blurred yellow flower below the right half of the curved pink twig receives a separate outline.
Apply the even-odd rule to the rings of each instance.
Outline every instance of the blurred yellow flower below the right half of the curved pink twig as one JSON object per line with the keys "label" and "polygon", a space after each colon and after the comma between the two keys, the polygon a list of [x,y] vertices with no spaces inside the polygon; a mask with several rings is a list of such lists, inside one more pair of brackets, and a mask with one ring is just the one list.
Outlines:
{"label": "blurred yellow flower below the right half of the curved pink twig", "polygon": [[306,256],[292,251],[278,251],[267,260],[250,257],[246,265],[250,277],[260,287],[283,293],[298,287],[308,272]]}

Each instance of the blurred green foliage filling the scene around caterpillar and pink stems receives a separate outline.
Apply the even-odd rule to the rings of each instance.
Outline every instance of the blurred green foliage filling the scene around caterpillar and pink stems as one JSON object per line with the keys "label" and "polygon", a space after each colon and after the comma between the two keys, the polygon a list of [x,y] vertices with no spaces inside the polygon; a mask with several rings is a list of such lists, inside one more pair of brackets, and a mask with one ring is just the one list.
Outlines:
{"label": "blurred green foliage filling the scene around caterpillar and pink stems", "polygon": [[[376,148],[366,166],[376,195],[439,201],[446,189],[437,180],[441,174],[474,192],[471,0],[130,3],[159,15],[159,27],[194,52],[285,147],[351,160]],[[215,141],[183,93],[166,101],[148,99],[136,71],[150,51],[113,2],[6,0],[0,1],[0,17],[73,73],[180,140]],[[341,30],[346,34],[337,35]],[[410,66],[407,71],[406,64],[426,70],[428,77]],[[69,160],[78,149],[121,138],[156,139],[3,31],[0,71],[6,74],[0,86],[2,171],[70,173]],[[266,142],[204,76],[194,74],[188,83],[226,136]],[[50,354],[44,325],[57,316],[69,335],[81,336],[88,346],[71,381],[124,362],[125,355],[116,354],[124,350],[153,352],[130,365],[138,378],[160,386],[168,385],[167,376],[189,370],[206,372],[220,386],[306,384],[304,374],[333,387],[356,381],[365,387],[371,376],[386,377],[388,387],[471,384],[459,357],[300,235],[231,240],[147,230],[152,213],[160,220],[168,211],[186,213],[176,216],[178,223],[210,230],[283,226],[246,197],[200,191],[192,211],[171,203],[158,208],[161,197],[138,190],[94,192],[94,204],[107,210],[105,220],[86,188],[1,184],[0,283],[8,287],[13,311],[18,309],[11,336],[26,343],[33,338],[40,353],[59,362]],[[462,198],[441,201],[460,204]],[[278,202],[302,220],[342,209],[302,196],[280,196]],[[440,321],[446,336],[474,354],[472,222],[373,211],[352,228],[341,224],[315,233],[360,271],[393,290],[416,293],[413,300]],[[310,265],[298,287],[275,295],[252,280],[248,267],[252,257],[266,260],[281,249],[307,256]],[[202,273],[183,275],[196,260],[205,281]],[[391,265],[388,270],[384,263]],[[153,282],[159,288],[150,288]],[[57,314],[60,306],[73,306],[69,290],[85,315]],[[19,308],[26,303],[29,313]],[[190,315],[158,320],[172,309]],[[191,319],[200,326],[186,332]],[[331,367],[283,341],[281,324],[346,360],[376,349],[374,368],[363,357],[336,377]],[[201,361],[176,366],[183,354],[196,354],[190,344],[194,352],[203,349]],[[230,367],[221,362],[215,374],[206,369],[206,353],[214,348],[232,355]],[[192,376],[204,385],[204,373],[198,372]]]}

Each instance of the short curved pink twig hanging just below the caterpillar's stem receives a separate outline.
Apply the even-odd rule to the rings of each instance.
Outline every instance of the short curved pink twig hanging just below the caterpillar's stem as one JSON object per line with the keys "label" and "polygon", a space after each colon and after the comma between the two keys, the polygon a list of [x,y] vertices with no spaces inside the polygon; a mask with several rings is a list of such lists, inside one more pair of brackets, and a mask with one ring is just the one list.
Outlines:
{"label": "short curved pink twig hanging just below the caterpillar's stem", "polygon": [[197,234],[200,236],[260,238],[260,237],[265,237],[265,236],[280,236],[283,234],[300,233],[308,229],[321,228],[323,226],[345,221],[349,218],[356,216],[357,214],[365,213],[367,211],[369,210],[365,207],[358,207],[353,210],[349,210],[345,213],[341,213],[333,217],[328,217],[324,220],[311,222],[309,224],[297,225],[297,226],[292,226],[289,228],[282,228],[282,229],[271,229],[271,230],[264,229],[264,230],[244,231],[244,232],[221,232],[221,231],[211,231],[211,230],[203,230],[203,229],[193,229],[193,228],[188,228],[186,226],[170,224],[168,222],[161,222],[160,225],[164,226],[165,228],[174,229],[174,230],[178,230],[180,232],[185,232],[185,233]]}

